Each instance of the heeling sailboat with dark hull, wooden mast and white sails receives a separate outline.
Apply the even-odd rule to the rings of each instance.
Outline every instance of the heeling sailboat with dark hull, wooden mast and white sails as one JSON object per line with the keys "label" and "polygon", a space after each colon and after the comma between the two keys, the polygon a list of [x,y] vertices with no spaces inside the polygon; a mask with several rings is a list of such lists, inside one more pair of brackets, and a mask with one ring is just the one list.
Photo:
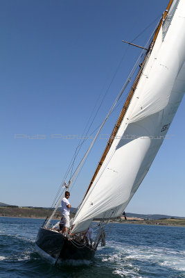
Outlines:
{"label": "heeling sailboat with dark hull, wooden mast and white sails", "polygon": [[[139,47],[139,46],[137,46]],[[64,197],[58,199],[51,217],[39,229],[37,251],[58,260],[92,259],[104,244],[105,226],[121,216],[146,176],[161,147],[185,90],[185,1],[170,0],[134,72],[127,99],[107,142],[105,151],[71,222],[69,233],[53,229],[51,220]],[[69,190],[98,134],[130,83],[131,72],[116,101],[91,142],[73,177]],[[114,186],[113,186],[114,185]],[[99,220],[94,244],[82,240],[94,220]]]}

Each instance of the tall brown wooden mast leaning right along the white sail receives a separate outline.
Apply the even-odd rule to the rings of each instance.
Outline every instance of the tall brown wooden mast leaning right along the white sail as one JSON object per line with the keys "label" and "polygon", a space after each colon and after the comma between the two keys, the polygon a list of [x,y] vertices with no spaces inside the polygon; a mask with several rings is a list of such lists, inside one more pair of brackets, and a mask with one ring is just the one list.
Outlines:
{"label": "tall brown wooden mast leaning right along the white sail", "polygon": [[[92,177],[91,182],[89,183],[89,187],[87,188],[87,191],[85,193],[85,197],[86,197],[87,193],[89,192],[89,189],[91,188],[92,183],[96,179],[96,176],[97,176],[97,174],[98,174],[98,172],[100,170],[100,167],[103,165],[103,162],[105,161],[105,157],[107,156],[107,153],[109,152],[109,149],[112,146],[112,142],[114,141],[116,133],[118,132],[118,128],[121,125],[121,122],[123,120],[123,117],[125,116],[125,113],[126,113],[127,108],[128,108],[128,106],[130,104],[132,96],[134,95],[134,91],[136,90],[136,85],[139,83],[139,79],[140,79],[141,74],[143,72],[143,66],[146,63],[146,58],[148,57],[148,54],[152,51],[152,48],[153,48],[153,46],[155,44],[155,41],[157,39],[157,35],[159,34],[159,30],[160,30],[164,20],[166,19],[167,15],[168,15],[168,10],[170,9],[170,6],[172,5],[172,3],[173,3],[173,0],[170,0],[170,2],[168,3],[168,6],[167,6],[167,8],[166,8],[166,10],[164,12],[163,17],[161,18],[161,21],[159,22],[159,25],[157,26],[157,29],[155,31],[155,35],[154,35],[154,37],[152,39],[152,42],[150,43],[150,47],[148,47],[148,51],[146,52],[146,56],[143,59],[142,67],[139,69],[139,72],[136,75],[136,79],[134,80],[134,84],[132,85],[132,88],[131,88],[131,90],[129,92],[129,95],[127,96],[127,99],[125,101],[125,104],[123,105],[121,113],[118,116],[118,120],[117,120],[117,122],[116,122],[116,124],[114,126],[114,129],[112,131],[112,134],[111,134],[111,136],[110,136],[110,138],[109,138],[109,140],[107,142],[107,146],[105,147],[105,151],[103,152],[103,156],[100,158],[98,166],[96,167],[96,171],[94,172],[94,176]],[[84,199],[85,199],[85,197],[84,197]]]}

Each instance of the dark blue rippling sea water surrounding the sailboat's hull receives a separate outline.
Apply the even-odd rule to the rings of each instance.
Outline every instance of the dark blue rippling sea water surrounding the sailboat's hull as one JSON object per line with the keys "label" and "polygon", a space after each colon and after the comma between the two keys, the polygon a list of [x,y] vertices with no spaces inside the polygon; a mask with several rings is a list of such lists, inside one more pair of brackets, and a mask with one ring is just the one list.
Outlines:
{"label": "dark blue rippling sea water surrounding the sailboat's hull", "polygon": [[0,218],[0,277],[185,277],[185,227],[113,223],[93,261],[53,265],[35,252],[42,222]]}

